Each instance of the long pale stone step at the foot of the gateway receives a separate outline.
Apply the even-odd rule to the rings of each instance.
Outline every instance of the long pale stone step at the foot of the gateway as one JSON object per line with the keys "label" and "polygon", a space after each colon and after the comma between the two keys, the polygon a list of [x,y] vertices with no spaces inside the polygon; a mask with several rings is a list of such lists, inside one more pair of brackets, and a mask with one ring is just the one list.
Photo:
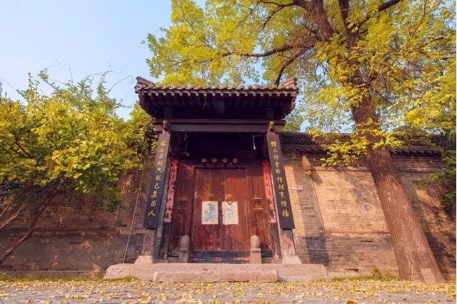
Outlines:
{"label": "long pale stone step at the foot of the gateway", "polygon": [[330,278],[321,264],[136,263],[111,265],[105,279],[153,282],[303,282]]}

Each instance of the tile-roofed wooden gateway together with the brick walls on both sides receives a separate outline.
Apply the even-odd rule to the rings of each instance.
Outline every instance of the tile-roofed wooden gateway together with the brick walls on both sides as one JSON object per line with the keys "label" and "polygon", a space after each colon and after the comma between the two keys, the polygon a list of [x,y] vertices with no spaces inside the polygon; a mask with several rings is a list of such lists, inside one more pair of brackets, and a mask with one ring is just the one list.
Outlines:
{"label": "tile-roofed wooden gateway together with the brick walls on both sides", "polygon": [[[54,208],[0,270],[94,272],[136,261],[136,269],[162,270],[171,267],[164,263],[270,263],[320,274],[397,271],[363,160],[321,166],[328,141],[281,132],[295,105],[294,79],[176,88],[138,78],[136,93],[159,139],[151,166],[124,178],[123,207],[112,215],[90,200]],[[443,168],[440,156],[421,145],[392,153],[441,271],[455,278],[455,218],[443,212],[442,189],[428,183]],[[11,236],[0,235],[0,246]]]}

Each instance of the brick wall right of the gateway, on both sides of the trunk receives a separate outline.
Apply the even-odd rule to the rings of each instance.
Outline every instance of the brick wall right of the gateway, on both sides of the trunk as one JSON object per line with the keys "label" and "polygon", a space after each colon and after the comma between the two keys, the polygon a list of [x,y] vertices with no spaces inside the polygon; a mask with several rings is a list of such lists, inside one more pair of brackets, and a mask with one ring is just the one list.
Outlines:
{"label": "brick wall right of the gateway, on both sides of the trunk", "polygon": [[[286,175],[296,221],[296,247],[303,263],[324,263],[346,273],[373,268],[396,272],[396,258],[371,173],[366,168],[326,168],[308,155],[286,154]],[[396,158],[396,168],[447,278],[455,278],[456,223],[440,206],[442,191],[428,185],[437,159]],[[301,189],[303,190],[297,190]]]}

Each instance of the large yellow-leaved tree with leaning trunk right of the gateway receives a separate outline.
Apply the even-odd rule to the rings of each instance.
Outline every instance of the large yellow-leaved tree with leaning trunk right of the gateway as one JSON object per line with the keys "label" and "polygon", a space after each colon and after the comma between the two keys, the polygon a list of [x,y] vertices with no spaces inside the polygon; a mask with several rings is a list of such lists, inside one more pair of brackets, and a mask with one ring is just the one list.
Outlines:
{"label": "large yellow-leaved tree with leaning trunk right of the gateway", "polygon": [[[151,75],[167,85],[281,83],[296,76],[298,115],[350,129],[330,164],[364,157],[403,278],[443,280],[393,167],[393,132],[455,128],[455,12],[442,0],[173,0],[171,26],[150,34]],[[430,126],[430,125],[429,125]]]}

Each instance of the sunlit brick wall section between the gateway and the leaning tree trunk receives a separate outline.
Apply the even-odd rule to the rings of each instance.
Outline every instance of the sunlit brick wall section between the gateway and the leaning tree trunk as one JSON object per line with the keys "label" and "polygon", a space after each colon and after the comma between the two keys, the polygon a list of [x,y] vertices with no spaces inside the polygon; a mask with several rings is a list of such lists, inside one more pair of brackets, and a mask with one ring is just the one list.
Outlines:
{"label": "sunlit brick wall section between the gateway and the leaning tree trunk", "polygon": [[[296,219],[296,248],[303,263],[323,263],[344,273],[396,271],[386,221],[368,172],[315,167],[307,174],[301,158],[289,158],[286,176]],[[303,190],[293,189],[299,186]]]}

